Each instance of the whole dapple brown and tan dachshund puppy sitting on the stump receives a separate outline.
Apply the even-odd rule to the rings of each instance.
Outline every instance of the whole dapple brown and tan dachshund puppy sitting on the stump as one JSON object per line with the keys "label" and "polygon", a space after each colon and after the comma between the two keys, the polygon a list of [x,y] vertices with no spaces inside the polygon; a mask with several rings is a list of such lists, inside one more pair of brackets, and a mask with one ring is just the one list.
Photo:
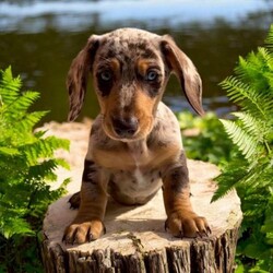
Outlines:
{"label": "whole dapple brown and tan dachshund puppy sitting on the stump", "polygon": [[63,241],[83,244],[105,233],[108,197],[121,204],[150,201],[163,188],[165,228],[176,237],[211,233],[190,202],[189,175],[178,121],[162,100],[170,73],[192,108],[203,115],[202,83],[191,60],[168,35],[120,28],[92,35],[73,60],[67,80],[69,120],[84,102],[91,73],[100,106],[90,134],[80,209]]}

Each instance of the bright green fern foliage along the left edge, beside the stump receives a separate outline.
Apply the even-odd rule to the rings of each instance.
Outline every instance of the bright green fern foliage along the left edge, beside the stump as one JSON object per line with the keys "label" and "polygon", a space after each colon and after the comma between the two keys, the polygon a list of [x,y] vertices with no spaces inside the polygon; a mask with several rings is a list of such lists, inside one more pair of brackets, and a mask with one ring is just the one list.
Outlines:
{"label": "bright green fern foliage along the left edge, beside the stump", "polygon": [[46,111],[28,112],[39,97],[37,92],[22,92],[21,79],[11,68],[0,70],[0,272],[37,272],[39,261],[37,234],[50,202],[64,192],[56,190],[57,149],[69,149],[67,140],[33,132]]}

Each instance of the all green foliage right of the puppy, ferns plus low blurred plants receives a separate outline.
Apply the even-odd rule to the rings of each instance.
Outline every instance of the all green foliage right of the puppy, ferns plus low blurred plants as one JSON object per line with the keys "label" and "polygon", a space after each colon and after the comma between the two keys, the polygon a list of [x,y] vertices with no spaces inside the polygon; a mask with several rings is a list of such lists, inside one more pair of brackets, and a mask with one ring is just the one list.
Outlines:
{"label": "all green foliage right of the puppy, ferns plus low blurred plants", "polygon": [[265,43],[240,57],[235,75],[221,83],[240,108],[233,120],[218,121],[211,114],[203,120],[178,115],[181,129],[200,130],[183,139],[188,156],[222,166],[212,201],[233,188],[240,197],[244,221],[237,272],[273,272],[273,25]]}

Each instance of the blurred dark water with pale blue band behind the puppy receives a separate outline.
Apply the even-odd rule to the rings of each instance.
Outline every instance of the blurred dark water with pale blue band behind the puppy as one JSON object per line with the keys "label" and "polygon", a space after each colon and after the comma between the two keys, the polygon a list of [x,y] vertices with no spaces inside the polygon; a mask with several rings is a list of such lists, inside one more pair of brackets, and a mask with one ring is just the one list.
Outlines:
{"label": "blurred dark water with pale blue band behind the puppy", "polygon": [[[24,90],[40,92],[34,110],[50,110],[44,122],[66,121],[67,72],[90,35],[117,27],[170,34],[201,74],[205,110],[223,117],[235,106],[218,83],[238,56],[263,45],[271,23],[271,0],[1,0],[0,69],[11,64]],[[174,76],[164,100],[174,111],[190,109]],[[79,120],[98,110],[90,82]]]}

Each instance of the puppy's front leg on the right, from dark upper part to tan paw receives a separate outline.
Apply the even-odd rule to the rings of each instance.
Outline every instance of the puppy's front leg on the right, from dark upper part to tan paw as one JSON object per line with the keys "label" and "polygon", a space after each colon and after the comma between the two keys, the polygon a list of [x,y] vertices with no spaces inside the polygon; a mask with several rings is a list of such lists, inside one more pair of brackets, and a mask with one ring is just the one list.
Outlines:
{"label": "puppy's front leg on the right, from dark upper part to tan paw", "polygon": [[176,237],[197,237],[211,230],[204,217],[197,215],[190,203],[189,176],[183,152],[178,164],[169,167],[163,176],[163,195],[167,221],[165,224]]}

